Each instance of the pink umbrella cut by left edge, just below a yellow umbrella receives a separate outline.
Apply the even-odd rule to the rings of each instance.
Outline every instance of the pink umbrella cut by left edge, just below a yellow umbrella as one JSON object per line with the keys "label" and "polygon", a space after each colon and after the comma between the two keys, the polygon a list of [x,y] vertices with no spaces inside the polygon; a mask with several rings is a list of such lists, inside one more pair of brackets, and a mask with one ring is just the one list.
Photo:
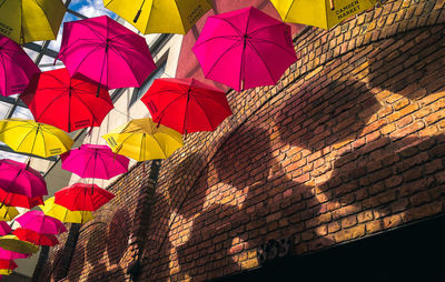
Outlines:
{"label": "pink umbrella cut by left edge, just below a yellow umbrella", "polygon": [[[48,194],[47,183],[40,172],[12,160],[0,160],[0,188],[7,193],[17,193],[29,198]],[[7,199],[4,198],[4,200]]]}

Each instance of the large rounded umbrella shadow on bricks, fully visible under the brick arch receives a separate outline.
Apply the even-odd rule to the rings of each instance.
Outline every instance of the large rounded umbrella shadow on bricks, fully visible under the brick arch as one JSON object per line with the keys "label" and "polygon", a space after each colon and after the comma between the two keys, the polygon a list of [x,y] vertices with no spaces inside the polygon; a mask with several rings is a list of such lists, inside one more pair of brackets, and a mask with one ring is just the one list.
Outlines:
{"label": "large rounded umbrella shadow on bricks, fully visible under the brick arch", "polygon": [[380,108],[367,85],[359,81],[320,85],[309,80],[301,89],[285,100],[275,123],[284,142],[313,152],[356,139]]}

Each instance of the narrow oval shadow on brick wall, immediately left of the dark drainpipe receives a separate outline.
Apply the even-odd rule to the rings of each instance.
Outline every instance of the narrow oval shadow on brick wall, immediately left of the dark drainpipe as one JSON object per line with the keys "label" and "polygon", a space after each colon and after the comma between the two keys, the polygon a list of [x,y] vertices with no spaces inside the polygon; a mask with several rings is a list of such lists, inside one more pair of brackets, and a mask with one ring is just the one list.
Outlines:
{"label": "narrow oval shadow on brick wall, immediately left of the dark drainpipe", "polygon": [[107,252],[111,264],[118,264],[128,249],[131,228],[129,219],[127,209],[120,208],[108,223]]}

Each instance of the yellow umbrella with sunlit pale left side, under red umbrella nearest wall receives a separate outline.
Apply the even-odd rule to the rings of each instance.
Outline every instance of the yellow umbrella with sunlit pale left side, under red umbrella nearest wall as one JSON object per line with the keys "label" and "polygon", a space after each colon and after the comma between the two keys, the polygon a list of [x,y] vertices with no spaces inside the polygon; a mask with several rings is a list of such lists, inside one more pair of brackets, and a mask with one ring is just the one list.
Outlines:
{"label": "yellow umbrella with sunlit pale left side, under red umbrella nearest wall", "polygon": [[182,135],[151,119],[136,119],[102,137],[117,154],[137,161],[167,159],[184,145]]}

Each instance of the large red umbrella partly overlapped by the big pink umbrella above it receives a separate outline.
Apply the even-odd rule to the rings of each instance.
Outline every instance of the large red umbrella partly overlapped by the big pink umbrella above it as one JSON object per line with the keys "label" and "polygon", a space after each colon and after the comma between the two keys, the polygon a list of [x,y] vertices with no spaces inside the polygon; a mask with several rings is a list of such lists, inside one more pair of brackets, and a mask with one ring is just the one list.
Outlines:
{"label": "large red umbrella partly overlapped by the big pink umbrella above it", "polygon": [[85,79],[71,79],[67,69],[36,75],[20,99],[31,110],[36,121],[67,132],[99,127],[111,111],[108,91]]}

